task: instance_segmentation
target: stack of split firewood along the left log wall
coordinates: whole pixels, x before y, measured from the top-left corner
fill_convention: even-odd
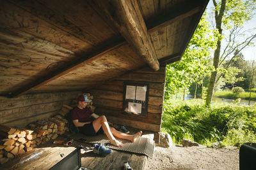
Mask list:
[[[13,128],[0,124],[0,164],[15,155],[28,152],[36,146],[56,139],[68,130],[67,120],[61,115],[49,120],[37,120],[27,125],[27,129]]]

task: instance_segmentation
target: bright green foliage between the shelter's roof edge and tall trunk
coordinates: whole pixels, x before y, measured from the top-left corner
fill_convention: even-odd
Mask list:
[[[189,41],[182,59],[166,67],[165,100],[177,92],[183,92],[193,81],[200,79],[205,72],[211,69],[207,66],[207,58],[215,46],[211,25],[206,22],[204,15]]]

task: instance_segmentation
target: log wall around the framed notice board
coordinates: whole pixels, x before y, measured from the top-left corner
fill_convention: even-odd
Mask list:
[[[152,71],[145,67],[89,90],[96,107],[95,113],[106,115],[109,122],[153,131],[157,142],[161,131],[165,69],[160,67],[159,71]],[[147,117],[122,113],[125,81],[149,84]]]

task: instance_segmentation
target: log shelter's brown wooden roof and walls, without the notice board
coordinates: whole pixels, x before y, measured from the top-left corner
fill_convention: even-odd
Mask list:
[[[1,0],[0,124],[49,118],[90,92],[109,121],[161,131],[166,64],[179,61],[208,0]],[[148,85],[125,114],[125,83]]]

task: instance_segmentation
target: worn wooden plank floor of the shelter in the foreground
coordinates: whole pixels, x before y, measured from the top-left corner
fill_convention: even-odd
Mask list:
[[[68,138],[71,138],[69,136]],[[58,137],[56,140],[68,140],[66,138]],[[83,134],[76,134],[72,136],[74,139],[83,138]],[[52,144],[51,142],[45,143],[43,145],[35,148],[33,152],[25,153],[20,157],[16,157],[8,161],[6,164],[0,166],[0,169],[49,169],[59,162],[64,157],[61,157],[63,153],[65,157],[76,149],[76,146],[87,146],[91,147],[92,145],[87,143],[81,143],[80,141],[75,140],[74,145],[72,146],[63,146]],[[39,157],[28,162],[20,163],[24,157],[28,157],[34,152],[40,152]],[[112,150],[112,153],[109,155],[100,156],[93,152],[81,153],[81,164],[88,169],[124,169],[124,162],[129,162],[129,165],[132,169],[147,169],[148,157],[146,155],[138,153],[130,153]]]

